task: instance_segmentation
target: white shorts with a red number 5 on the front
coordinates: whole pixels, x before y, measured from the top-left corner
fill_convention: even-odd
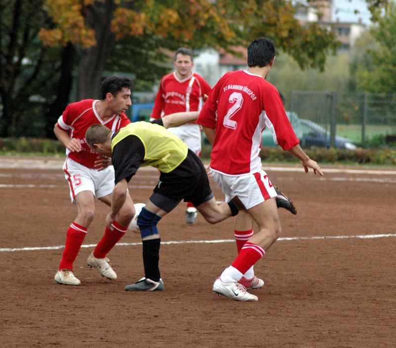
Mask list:
[[[69,183],[71,202],[79,192],[91,191],[94,196],[101,198],[113,192],[114,168],[109,166],[102,171],[90,169],[82,164],[66,158],[63,164],[63,172]]]

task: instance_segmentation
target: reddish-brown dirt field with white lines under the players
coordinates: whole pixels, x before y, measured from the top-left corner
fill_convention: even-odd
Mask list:
[[[269,166],[297,216],[279,212],[283,236],[255,265],[265,280],[256,303],[211,292],[236,256],[233,219],[186,225],[185,204],[159,223],[169,242],[160,253],[164,292],[124,291],[143,276],[136,233],[108,255],[116,281],[87,267],[108,211],[99,202],[75,262],[81,285],[54,284],[77,212],[61,168],[0,158],[0,347],[396,347],[395,168],[324,167],[319,178]],[[132,179],[136,203],[157,176],[140,170]]]

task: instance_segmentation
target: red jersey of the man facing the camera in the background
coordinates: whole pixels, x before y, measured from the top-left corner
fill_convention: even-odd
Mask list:
[[[210,93],[210,86],[198,74],[179,80],[176,72],[165,75],[161,79],[158,93],[155,97],[151,119],[175,112],[199,111],[203,105],[203,95]]]

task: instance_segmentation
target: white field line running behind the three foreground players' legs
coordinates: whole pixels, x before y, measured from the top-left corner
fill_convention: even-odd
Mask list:
[[[363,234],[355,236],[313,236],[313,237],[281,237],[277,241],[300,241],[300,240],[325,240],[325,239],[374,239],[374,238],[389,238],[396,237],[396,233],[387,234]],[[161,242],[162,245],[174,245],[174,244],[219,244],[219,243],[232,243],[234,239],[215,239],[215,240],[181,240],[181,241],[168,241]],[[142,245],[141,242],[137,243],[117,243],[117,246],[128,247]],[[0,248],[0,252],[15,252],[15,251],[35,251],[35,250],[57,250],[63,249],[64,245],[55,245],[52,247],[25,247],[25,248]],[[94,248],[96,244],[84,244],[81,248]]]

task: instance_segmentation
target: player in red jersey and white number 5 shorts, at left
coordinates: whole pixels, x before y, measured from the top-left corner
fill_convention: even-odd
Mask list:
[[[94,219],[95,197],[111,206],[114,187],[111,159],[90,149],[85,133],[92,125],[118,131],[130,123],[125,111],[132,105],[131,84],[132,81],[125,77],[105,79],[100,87],[100,100],[86,99],[68,105],[55,124],[55,135],[66,147],[63,171],[70,198],[78,208],[78,215],[67,230],[65,248],[54,278],[56,283],[80,285],[80,280],[73,274],[73,263]],[[127,195],[125,204],[113,223],[105,228],[102,239],[87,260],[88,265],[97,268],[108,279],[116,279],[117,274],[106,255],[125,234],[133,214],[133,201]]]

